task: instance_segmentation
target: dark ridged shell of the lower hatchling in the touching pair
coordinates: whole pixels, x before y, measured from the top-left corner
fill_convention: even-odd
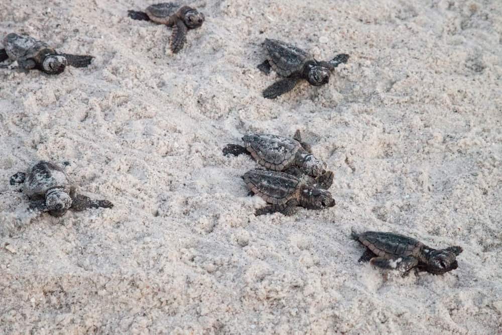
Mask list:
[[[298,197],[300,180],[284,172],[250,170],[243,177],[250,191],[272,204],[284,204]]]

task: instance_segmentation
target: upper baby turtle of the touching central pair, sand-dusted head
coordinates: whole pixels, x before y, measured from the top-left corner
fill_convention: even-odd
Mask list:
[[[310,145],[302,141],[299,130],[293,139],[271,134],[249,134],[242,141],[244,146],[226,145],[223,154],[248,154],[267,169],[297,177],[307,174],[316,178],[315,182],[323,189],[328,189],[333,183],[333,172],[326,171],[325,164],[312,155]]]

